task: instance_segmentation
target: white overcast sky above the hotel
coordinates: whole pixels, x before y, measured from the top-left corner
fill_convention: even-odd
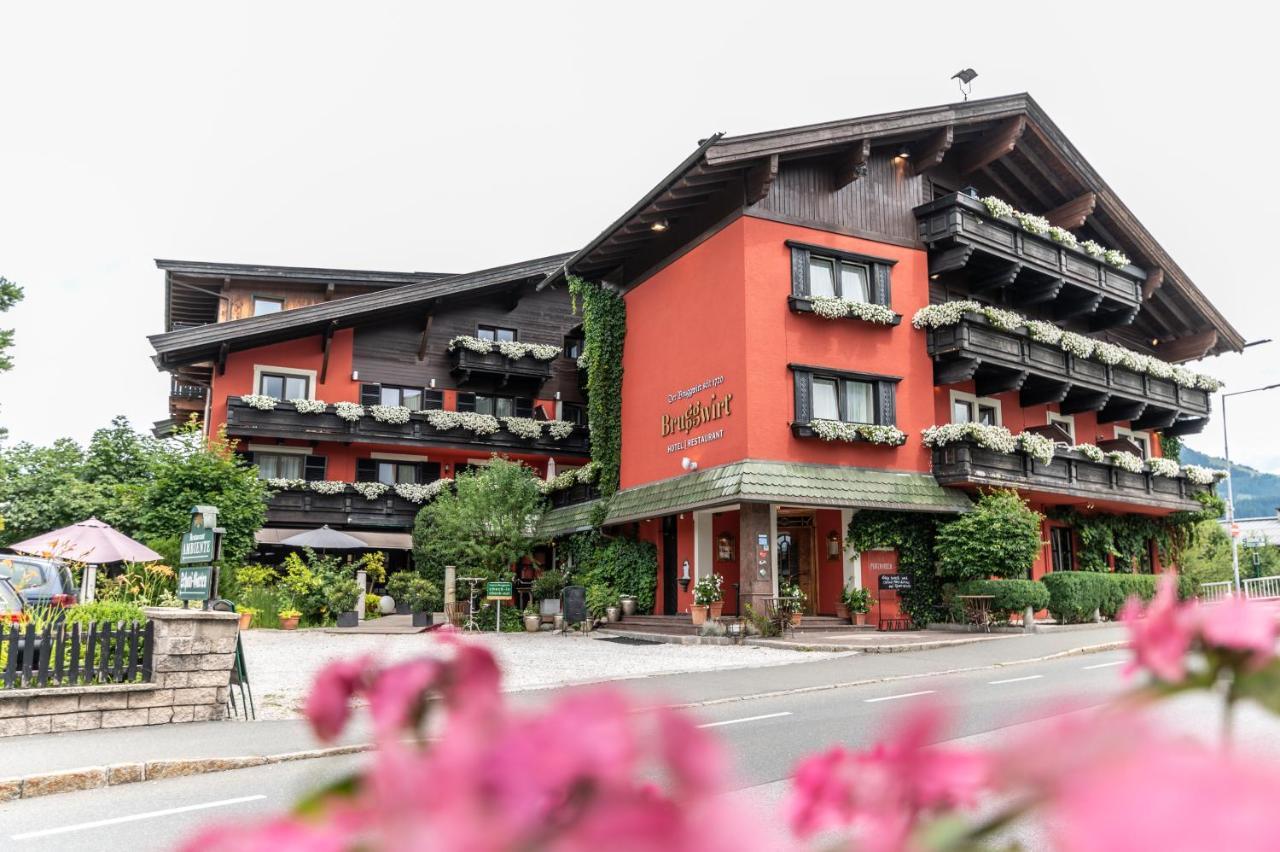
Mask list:
[[[709,133],[950,102],[969,65],[974,97],[1030,92],[1247,339],[1280,338],[1265,8],[5,3],[0,275],[27,298],[0,316],[0,423],[45,443],[165,416],[155,257],[570,251]],[[1201,368],[1280,381],[1280,342]],[[1280,471],[1280,390],[1231,404],[1234,458]],[[1190,445],[1221,454],[1221,421]]]

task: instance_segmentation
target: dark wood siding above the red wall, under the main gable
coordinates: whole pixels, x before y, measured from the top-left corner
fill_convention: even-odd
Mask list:
[[[769,194],[748,212],[837,233],[915,246],[911,209],[928,198],[924,178],[909,177],[884,154],[873,154],[867,177],[833,189],[835,164],[828,159],[783,161]]]

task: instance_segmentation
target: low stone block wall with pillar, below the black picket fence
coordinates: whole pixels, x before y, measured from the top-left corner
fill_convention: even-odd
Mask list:
[[[155,624],[150,683],[0,690],[0,737],[225,718],[239,618],[196,609],[146,613]]]

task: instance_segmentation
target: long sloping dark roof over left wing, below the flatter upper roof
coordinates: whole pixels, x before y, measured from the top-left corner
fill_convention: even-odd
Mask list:
[[[562,267],[567,258],[567,253],[552,255],[466,275],[451,275],[389,287],[376,293],[352,296],[279,313],[155,334],[147,340],[155,349],[152,361],[156,366],[161,370],[170,370],[175,366],[215,358],[220,352],[248,349],[266,343],[320,334],[329,329],[347,327],[410,308],[421,310],[440,299],[461,294],[475,294],[488,289],[509,289],[539,281],[549,272]]]

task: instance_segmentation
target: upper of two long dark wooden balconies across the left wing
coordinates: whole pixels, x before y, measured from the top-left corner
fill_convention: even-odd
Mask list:
[[[545,434],[527,439],[499,429],[493,435],[476,435],[465,429],[440,430],[431,426],[425,412],[412,412],[407,423],[383,423],[365,414],[355,422],[346,421],[328,406],[323,414],[300,414],[293,403],[276,403],[273,411],[247,406],[239,397],[227,399],[227,434],[232,438],[292,438],[307,441],[342,444],[390,444],[401,446],[436,446],[499,453],[540,453],[557,458],[588,458],[589,430],[575,426],[564,439]]]

